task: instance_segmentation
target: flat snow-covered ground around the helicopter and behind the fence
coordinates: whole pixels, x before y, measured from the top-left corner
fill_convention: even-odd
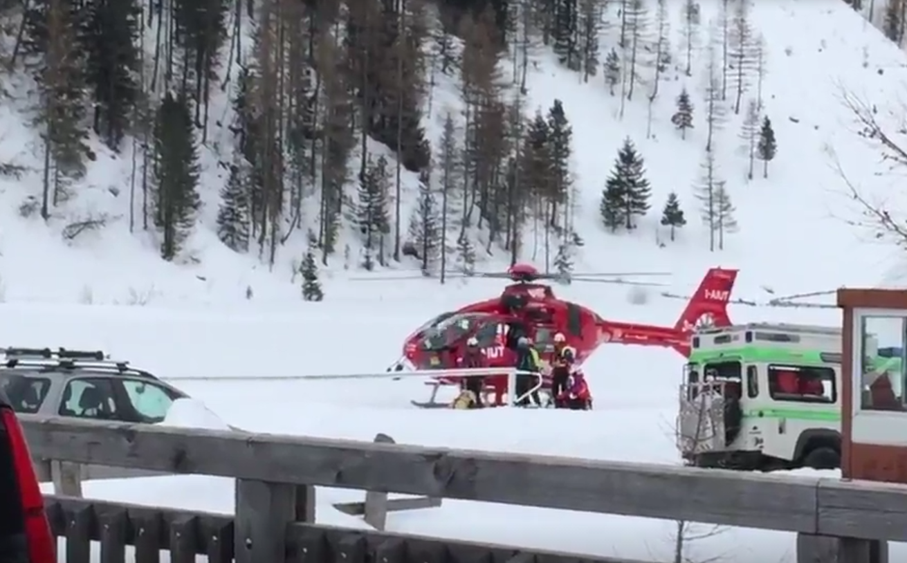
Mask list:
[[[576,290],[574,290],[576,291]],[[653,299],[632,307],[611,294],[587,292],[593,306],[622,319],[668,323],[676,301]],[[449,297],[447,306],[456,302]],[[444,306],[438,298],[431,306]],[[434,310],[434,309],[431,309]],[[361,382],[270,381],[268,377],[381,372],[400,341],[422,321],[426,307],[411,299],[371,304],[322,303],[261,310],[238,306],[169,310],[125,306],[0,306],[0,342],[103,348],[129,359],[191,393],[208,413],[180,407],[168,423],[351,438],[370,441],[376,432],[397,442],[577,456],[591,459],[677,463],[673,421],[682,359],[662,350],[605,346],[589,365],[596,394],[592,412],[424,411],[409,400],[426,393],[412,379]],[[750,318],[746,311],[733,312]],[[818,316],[816,316],[818,315]],[[792,318],[834,323],[834,311]],[[180,377],[243,378],[183,381]],[[248,377],[257,381],[249,381]],[[88,497],[193,510],[233,510],[232,481],[166,477],[86,483]],[[322,490],[317,519],[357,527],[331,504],[362,493]],[[675,524],[493,504],[445,500],[439,509],[391,515],[388,529],[458,539],[487,540],[531,548],[670,560]],[[705,529],[708,529],[707,527]],[[892,557],[901,546],[892,550]],[[690,560],[717,556],[739,563],[793,561],[790,534],[722,529],[689,545]]]

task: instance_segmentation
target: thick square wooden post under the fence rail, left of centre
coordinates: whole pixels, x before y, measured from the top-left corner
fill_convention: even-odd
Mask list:
[[[297,517],[296,485],[236,480],[236,563],[284,561],[287,528]]]

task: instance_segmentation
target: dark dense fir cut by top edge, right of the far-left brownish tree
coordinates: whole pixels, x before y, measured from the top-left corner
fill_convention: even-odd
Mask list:
[[[140,8],[135,0],[93,0],[83,6],[80,43],[93,98],[93,128],[105,145],[119,150],[140,95]]]

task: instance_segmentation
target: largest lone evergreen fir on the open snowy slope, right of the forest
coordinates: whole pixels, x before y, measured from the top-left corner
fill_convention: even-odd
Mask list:
[[[618,152],[614,171],[605,184],[602,199],[602,218],[612,231],[617,228],[613,225],[614,218],[622,218],[624,227],[629,230],[636,228],[633,218],[641,217],[649,211],[652,190],[649,180],[645,178],[643,165],[642,157],[628,137]]]

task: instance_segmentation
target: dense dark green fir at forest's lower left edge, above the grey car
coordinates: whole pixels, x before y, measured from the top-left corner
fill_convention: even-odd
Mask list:
[[[200,201],[199,156],[189,107],[167,94],[154,126],[155,224],[161,231],[161,257],[172,260],[195,222]]]

